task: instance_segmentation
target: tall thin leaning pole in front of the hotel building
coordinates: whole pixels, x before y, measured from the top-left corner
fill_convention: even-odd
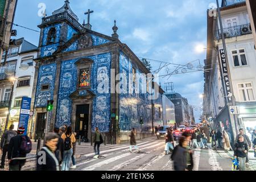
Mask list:
[[[228,106],[230,106],[230,104],[232,104],[233,106],[236,105],[236,98],[234,97],[234,92],[233,92],[233,85],[232,85],[232,80],[230,77],[230,68],[229,68],[229,60],[228,60],[228,52],[226,51],[226,41],[225,41],[225,36],[224,36],[224,30],[223,30],[223,25],[222,25],[222,19],[221,19],[221,12],[220,12],[220,5],[218,3],[218,0],[216,0],[217,2],[217,10],[218,10],[218,19],[220,21],[220,28],[221,28],[221,38],[222,38],[222,44],[223,44],[223,48],[224,48],[224,52],[225,52],[225,62],[226,62],[226,71],[228,73],[228,80],[229,80],[229,87],[230,87],[230,93],[232,94],[231,96],[231,103],[228,102]],[[225,81],[224,81],[225,82]],[[228,90],[226,90],[228,92]],[[226,96],[229,97],[229,96]],[[237,118],[236,115],[233,115],[234,117],[234,124],[236,127],[236,134],[238,133],[238,127],[237,127]]]

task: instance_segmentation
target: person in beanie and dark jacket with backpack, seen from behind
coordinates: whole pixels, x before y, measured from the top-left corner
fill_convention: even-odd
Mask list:
[[[8,148],[9,171],[20,171],[26,163],[26,156],[32,150],[32,143],[27,135],[23,135],[24,127],[19,127],[15,137],[11,138]]]

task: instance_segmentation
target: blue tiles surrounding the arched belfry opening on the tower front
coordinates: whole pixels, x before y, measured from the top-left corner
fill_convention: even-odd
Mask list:
[[[51,44],[49,46],[46,46],[47,45],[48,32],[52,27],[56,28],[55,44]],[[53,54],[53,52],[57,51],[57,48],[59,46],[59,41],[60,41],[60,29],[61,29],[61,24],[55,24],[53,26],[49,26],[49,27],[44,28],[42,48],[41,48],[41,57],[51,56]]]

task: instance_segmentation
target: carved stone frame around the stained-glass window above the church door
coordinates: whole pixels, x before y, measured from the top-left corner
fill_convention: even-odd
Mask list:
[[[85,59],[80,59],[78,61],[76,61],[76,66],[77,66],[77,85],[76,85],[76,90],[84,90],[84,89],[90,89],[92,86],[92,65],[93,65],[93,60],[85,58]],[[80,87],[80,70],[81,69],[86,69],[89,68],[89,79],[90,79],[90,86],[85,86],[85,87]]]

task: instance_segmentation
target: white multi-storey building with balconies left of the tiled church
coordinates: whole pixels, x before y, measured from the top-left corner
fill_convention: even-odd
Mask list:
[[[0,125],[2,131],[5,128],[13,86],[13,81],[10,78],[15,77],[16,80],[14,82],[13,100],[11,101],[9,125],[14,124],[15,129],[17,129],[21,99],[22,97],[32,96],[35,74],[33,59],[36,58],[37,52],[38,48],[24,38],[14,39],[10,42],[6,64],[0,67]],[[1,63],[4,60],[5,56],[2,57]]]

